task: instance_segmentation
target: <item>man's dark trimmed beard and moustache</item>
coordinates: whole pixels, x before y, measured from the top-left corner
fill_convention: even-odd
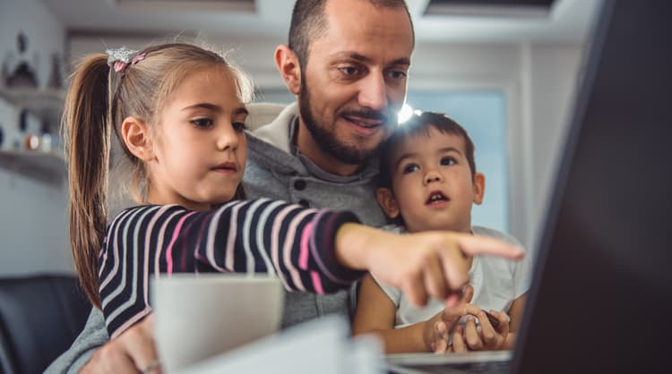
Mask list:
[[[335,129],[332,129],[330,132],[329,129],[324,126],[324,123],[319,123],[315,120],[311,110],[310,101],[311,98],[306,84],[306,76],[302,76],[301,93],[298,98],[299,113],[306,124],[308,132],[313,136],[317,147],[334,159],[348,165],[364,165],[371,157],[375,156],[379,147],[375,147],[375,149],[359,149],[356,145],[347,144],[337,139]],[[359,110],[334,113],[334,125],[335,121],[343,115],[380,120],[383,121],[383,126],[389,125],[389,118],[387,115],[366,107],[359,108]]]

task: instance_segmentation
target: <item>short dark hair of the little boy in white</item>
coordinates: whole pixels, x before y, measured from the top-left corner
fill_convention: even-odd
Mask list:
[[[439,132],[457,135],[464,140],[464,151],[467,162],[471,170],[471,177],[476,174],[476,160],[474,158],[474,142],[471,141],[469,134],[464,128],[453,121],[447,115],[435,112],[423,112],[422,114],[413,114],[408,121],[397,127],[392,136],[381,144],[379,149],[380,156],[380,176],[378,187],[392,189],[392,149],[395,149],[401,141],[409,137],[424,134],[429,136],[429,128],[434,127]]]

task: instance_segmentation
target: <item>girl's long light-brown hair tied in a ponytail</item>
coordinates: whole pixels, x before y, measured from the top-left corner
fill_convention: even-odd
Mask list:
[[[149,47],[143,53],[142,61],[128,64],[121,72],[108,66],[108,55],[84,57],[70,78],[65,99],[63,132],[70,190],[70,242],[84,292],[98,308],[99,251],[108,225],[111,133],[116,133],[131,164],[132,197],[137,203],[144,203],[148,174],[142,160],[128,150],[122,139],[121,123],[126,117],[155,123],[161,103],[185,76],[210,66],[220,65],[231,74],[241,101],[252,98],[252,85],[246,75],[218,53],[183,43]],[[234,199],[244,198],[242,187],[238,186]]]

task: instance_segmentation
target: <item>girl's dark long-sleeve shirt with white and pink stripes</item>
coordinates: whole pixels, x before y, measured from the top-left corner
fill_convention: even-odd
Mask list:
[[[114,338],[151,312],[149,278],[188,272],[268,272],[288,290],[330,293],[362,272],[336,260],[335,234],[349,212],[275,200],[232,201],[196,212],[139,206],[108,225],[99,256],[99,290]]]

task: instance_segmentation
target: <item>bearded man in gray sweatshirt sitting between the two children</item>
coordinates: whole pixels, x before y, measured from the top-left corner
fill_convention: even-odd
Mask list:
[[[396,124],[413,46],[403,0],[297,0],[289,46],[275,51],[297,103],[248,136],[248,197],[349,209],[367,225],[382,225],[372,157]],[[352,300],[347,292],[288,293],[285,304],[288,327],[327,313],[348,314]],[[102,314],[92,310],[82,334],[47,372],[151,371],[151,320],[105,344]]]

